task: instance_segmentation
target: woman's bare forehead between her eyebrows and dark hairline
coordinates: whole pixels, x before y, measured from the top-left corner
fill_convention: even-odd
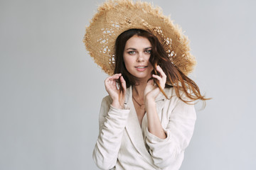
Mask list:
[[[144,38],[142,36],[133,35],[132,38],[129,38],[125,44],[125,48],[146,48],[151,47],[151,43],[147,38]]]

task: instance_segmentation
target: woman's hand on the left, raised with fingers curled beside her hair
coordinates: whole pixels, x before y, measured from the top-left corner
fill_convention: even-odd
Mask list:
[[[122,86],[122,89],[124,89],[124,91],[121,91],[120,88],[117,88],[117,79],[120,79],[121,84],[119,84],[119,86]],[[119,73],[114,74],[111,77],[107,77],[107,79],[105,79],[105,89],[113,100],[112,106],[114,108],[124,108],[126,82],[124,81],[124,77],[122,77],[122,74]]]

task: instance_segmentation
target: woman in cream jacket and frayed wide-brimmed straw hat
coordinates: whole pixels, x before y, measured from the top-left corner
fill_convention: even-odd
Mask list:
[[[145,26],[143,23],[133,28],[133,18],[126,21],[129,29],[122,25],[124,31],[114,39],[114,49],[106,46],[111,45],[110,38],[107,43],[102,38],[93,40],[92,35],[97,35],[97,24],[102,24],[109,17],[107,13],[121,10],[134,14],[130,7],[137,12],[138,3],[141,3],[112,2],[108,1],[98,9],[98,15],[95,15],[85,35],[85,45],[95,62],[107,73],[111,69],[106,67],[110,65],[111,68],[114,64],[114,74],[105,80],[109,96],[102,100],[100,131],[93,159],[100,169],[179,169],[196,121],[193,101],[206,100],[198,86],[184,74],[190,72],[191,63],[194,63],[193,58],[189,58],[186,40],[182,42],[183,36],[176,33],[169,42],[167,38],[160,42],[164,30],[154,32],[155,29],[149,27],[150,20],[146,21],[144,29],[139,28],[139,24]],[[129,10],[122,10],[127,5]],[[156,11],[149,4],[144,4],[143,10],[145,8],[149,9],[149,14],[152,9]],[[112,19],[113,23],[117,23]],[[104,24],[106,28],[107,23]],[[103,33],[110,30],[110,37],[115,33],[111,29],[98,30],[103,30]],[[178,40],[175,39],[177,37]],[[166,44],[169,44],[167,50],[164,48]],[[95,55],[100,45],[102,55],[110,58],[108,62],[100,61]],[[181,51],[183,55],[179,55]],[[176,60],[178,57],[182,60]],[[184,60],[186,62],[182,62]]]

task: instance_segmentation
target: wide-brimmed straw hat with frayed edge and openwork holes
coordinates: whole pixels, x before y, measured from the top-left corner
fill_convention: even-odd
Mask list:
[[[83,39],[90,56],[104,72],[114,73],[115,40],[122,32],[132,28],[155,35],[171,62],[183,74],[193,71],[196,60],[189,52],[188,38],[182,34],[181,28],[163,15],[161,8],[142,1],[109,0],[97,8]]]

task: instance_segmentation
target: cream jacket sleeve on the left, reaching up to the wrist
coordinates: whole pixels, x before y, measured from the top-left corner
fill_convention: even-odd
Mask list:
[[[99,118],[99,135],[92,157],[100,169],[112,169],[122,142],[122,133],[127,123],[129,110],[111,106],[111,98],[102,99]]]

